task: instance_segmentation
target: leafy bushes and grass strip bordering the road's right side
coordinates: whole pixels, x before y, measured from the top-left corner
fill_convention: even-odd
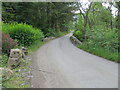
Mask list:
[[[119,42],[116,31],[118,30],[115,28],[108,29],[103,25],[94,26],[91,31],[87,31],[88,39],[78,47],[97,56],[120,62],[118,61]],[[78,36],[80,36],[80,34],[78,34]]]

